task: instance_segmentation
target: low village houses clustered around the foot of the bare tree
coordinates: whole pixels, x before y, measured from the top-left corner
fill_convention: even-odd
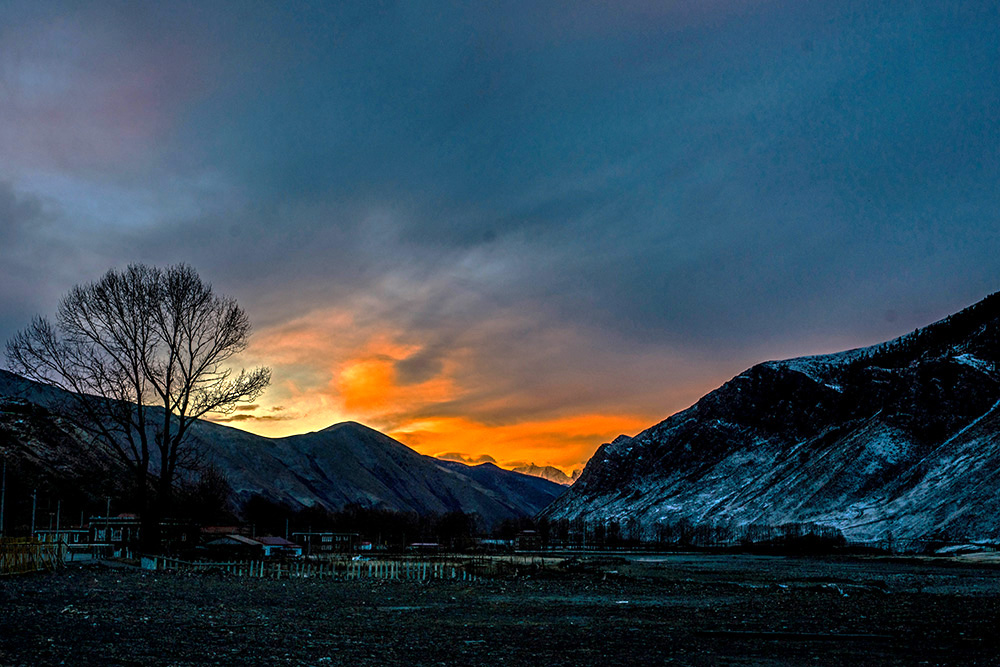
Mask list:
[[[34,537],[65,545],[68,559],[77,555],[128,557],[139,542],[140,523],[136,514],[92,516],[80,527],[36,530]],[[160,534],[168,551],[225,560],[298,558],[372,548],[357,533],[309,531],[279,537],[257,535],[253,527],[198,526],[169,519],[160,523]]]

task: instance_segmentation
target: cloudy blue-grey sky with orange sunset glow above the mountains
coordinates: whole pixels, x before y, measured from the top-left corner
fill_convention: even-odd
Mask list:
[[[0,0],[0,339],[185,262],[272,385],[580,467],[1000,289],[993,2]]]

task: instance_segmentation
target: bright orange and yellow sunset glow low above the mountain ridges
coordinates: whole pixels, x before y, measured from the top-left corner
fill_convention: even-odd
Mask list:
[[[684,396],[659,410],[629,411],[613,401],[602,409],[602,401],[592,400],[510,414],[509,402],[530,408],[536,401],[529,392],[539,390],[522,392],[514,382],[509,395],[493,391],[492,383],[503,378],[477,370],[481,360],[461,344],[439,355],[430,370],[407,375],[404,365],[426,352],[421,341],[407,338],[344,310],[311,313],[259,331],[241,362],[271,366],[272,385],[254,405],[217,421],[280,437],[352,420],[422,454],[493,460],[508,468],[551,465],[571,473],[602,443],[634,435],[690,402]],[[601,386],[600,378],[586,374],[576,382]],[[571,384],[565,381],[556,390],[568,395],[591,390]],[[693,388],[690,396],[701,391]],[[545,398],[539,395],[537,403]]]

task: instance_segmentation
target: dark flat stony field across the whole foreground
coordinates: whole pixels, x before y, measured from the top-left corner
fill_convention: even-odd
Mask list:
[[[475,584],[103,566],[0,579],[2,665],[1000,664],[1000,570],[584,560]]]

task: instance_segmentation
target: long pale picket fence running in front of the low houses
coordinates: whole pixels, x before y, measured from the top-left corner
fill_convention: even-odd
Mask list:
[[[454,579],[478,581],[481,576],[461,562],[410,560],[321,560],[321,561],[185,561],[167,556],[143,556],[147,570],[179,572],[224,572],[240,577],[266,579]]]

